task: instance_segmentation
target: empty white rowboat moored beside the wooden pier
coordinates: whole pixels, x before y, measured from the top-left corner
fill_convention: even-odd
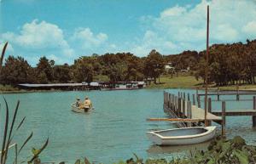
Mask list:
[[[198,144],[214,138],[216,127],[183,127],[148,132],[148,138],[158,145]]]

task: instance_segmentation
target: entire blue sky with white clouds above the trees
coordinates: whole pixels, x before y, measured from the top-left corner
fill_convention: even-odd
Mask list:
[[[0,0],[0,48],[36,65],[91,54],[147,56],[256,39],[256,0]]]

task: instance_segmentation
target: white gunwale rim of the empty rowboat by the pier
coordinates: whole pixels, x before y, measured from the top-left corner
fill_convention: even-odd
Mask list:
[[[158,132],[166,132],[166,131],[170,131],[170,130],[181,129],[181,128],[172,128],[172,129],[159,130],[159,131],[153,131],[153,132],[147,132],[147,133],[153,134],[153,135],[159,137],[160,139],[194,139],[194,138],[206,136],[207,134],[212,133],[216,129],[216,126],[211,126],[211,127],[183,127],[182,129],[184,129],[184,128],[185,129],[203,128],[203,129],[206,129],[207,132],[200,133],[200,134],[186,135],[186,136],[173,136],[173,137],[164,137],[164,136],[158,134]]]

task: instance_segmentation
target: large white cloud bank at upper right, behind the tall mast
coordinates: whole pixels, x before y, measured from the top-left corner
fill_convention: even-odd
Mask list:
[[[205,49],[208,4],[210,42],[244,42],[247,38],[255,39],[255,1],[202,0],[194,7],[176,5],[166,8],[158,17],[144,15],[140,19],[146,29],[144,37],[131,49],[140,55],[147,55],[153,48],[162,54]],[[150,35],[148,31],[151,31]]]

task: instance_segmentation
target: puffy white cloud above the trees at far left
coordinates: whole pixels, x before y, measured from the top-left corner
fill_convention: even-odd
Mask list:
[[[16,51],[15,54],[26,55],[26,59],[32,60],[32,65],[38,62],[39,54],[48,56],[49,54],[56,54],[57,59],[62,59],[68,62],[68,59],[73,57],[74,50],[70,48],[68,42],[64,38],[62,29],[55,24],[32,20],[30,23],[22,25],[18,33],[5,32],[2,35],[3,40],[9,41]],[[72,60],[73,61],[73,60]],[[55,61],[61,64],[59,60]]]

